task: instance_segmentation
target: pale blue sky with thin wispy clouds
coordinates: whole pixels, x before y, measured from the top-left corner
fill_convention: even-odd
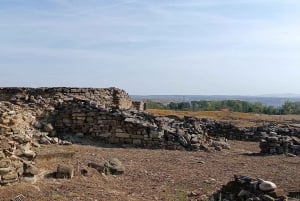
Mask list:
[[[300,1],[0,0],[0,86],[300,94]]]

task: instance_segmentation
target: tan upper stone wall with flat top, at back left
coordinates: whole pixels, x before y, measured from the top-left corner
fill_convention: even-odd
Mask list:
[[[50,104],[68,101],[73,98],[85,99],[104,107],[119,109],[132,108],[129,95],[118,88],[0,88],[0,101],[13,101],[28,104]]]

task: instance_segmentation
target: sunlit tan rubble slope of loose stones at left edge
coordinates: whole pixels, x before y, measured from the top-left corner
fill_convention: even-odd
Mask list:
[[[26,106],[0,101],[0,186],[17,181],[35,182],[38,169],[34,159],[39,139],[45,136],[51,143],[59,143],[48,137],[53,130],[49,125],[40,125],[49,132],[35,129],[38,124],[35,112]]]

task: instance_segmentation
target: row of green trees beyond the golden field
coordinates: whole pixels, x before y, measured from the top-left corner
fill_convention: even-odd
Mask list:
[[[146,101],[149,109],[171,109],[182,111],[220,111],[259,113],[259,114],[300,114],[300,102],[285,101],[282,106],[267,106],[260,102],[248,102],[241,100],[200,100],[191,102],[170,102],[164,105],[152,100]]]

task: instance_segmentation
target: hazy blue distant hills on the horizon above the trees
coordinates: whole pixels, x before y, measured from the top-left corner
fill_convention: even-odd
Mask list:
[[[300,101],[300,95],[294,94],[269,94],[261,96],[238,95],[131,95],[133,100],[152,100],[167,104],[170,102],[190,102],[199,100],[241,100],[248,102],[261,102],[267,106],[278,107],[285,101]]]

